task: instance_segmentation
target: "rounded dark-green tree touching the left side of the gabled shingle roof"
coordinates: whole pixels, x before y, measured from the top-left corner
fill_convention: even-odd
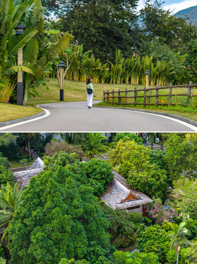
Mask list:
[[[111,165],[100,159],[91,159],[89,162],[79,164],[82,173],[85,173],[94,194],[99,196],[107,191],[107,184],[109,184],[114,175],[112,173]]]

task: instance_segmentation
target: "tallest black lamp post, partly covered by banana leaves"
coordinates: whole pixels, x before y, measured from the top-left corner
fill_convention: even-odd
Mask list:
[[[18,25],[15,27],[16,35],[22,35],[25,31],[23,25]],[[18,49],[17,56],[17,65],[22,64],[23,62],[23,50],[22,48]],[[23,75],[22,72],[17,72],[17,105],[23,105]]]

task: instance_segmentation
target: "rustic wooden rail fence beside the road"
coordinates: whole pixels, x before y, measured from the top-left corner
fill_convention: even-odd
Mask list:
[[[150,89],[146,89],[146,86],[144,87],[144,89],[137,89],[136,87],[133,90],[128,90],[125,89],[123,91],[121,91],[120,89],[118,91],[113,90],[112,92],[109,92],[109,90],[103,91],[103,101],[109,103],[110,101],[112,102],[112,104],[125,104],[125,105],[183,105],[183,103],[173,103],[172,102],[172,97],[173,96],[187,96],[186,100],[189,100],[190,97],[194,97],[197,96],[196,94],[191,94],[191,88],[192,87],[197,87],[197,84],[192,84],[192,82],[190,81],[189,84],[186,85],[172,85],[172,83],[169,84],[169,86],[161,86],[159,87],[159,85],[156,85],[156,87],[154,88],[150,88]],[[187,89],[187,93],[175,93],[173,94],[173,89],[175,88],[184,88]],[[167,94],[159,94],[159,90],[161,89],[169,89],[169,93]],[[150,91],[154,91],[155,90],[155,94],[150,94]],[[138,95],[138,92],[142,92],[143,95]],[[125,93],[125,95],[122,95],[121,93]],[[133,95],[128,96],[128,93],[133,93]],[[107,95],[107,97],[105,96]],[[167,103],[161,103],[159,101],[159,97],[169,97],[169,100]],[[150,102],[150,98],[151,97],[155,97],[155,102]],[[112,98],[112,100],[111,100]],[[117,98],[118,100],[116,100],[115,98]],[[121,98],[124,98],[125,102],[121,102]],[[129,98],[134,98],[133,102],[128,102]],[[137,102],[136,99],[137,98],[143,98],[143,102]],[[116,100],[116,101],[115,101]]]

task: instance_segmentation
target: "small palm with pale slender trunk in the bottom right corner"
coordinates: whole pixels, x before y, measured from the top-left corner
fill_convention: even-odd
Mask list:
[[[176,264],[178,264],[179,262],[179,251],[181,249],[181,245],[184,244],[186,246],[193,246],[191,242],[187,239],[191,235],[191,232],[184,227],[185,224],[185,222],[181,222],[180,225],[170,223],[171,229],[174,233],[167,236],[170,237],[170,240],[172,242],[170,249],[175,248],[176,250]]]

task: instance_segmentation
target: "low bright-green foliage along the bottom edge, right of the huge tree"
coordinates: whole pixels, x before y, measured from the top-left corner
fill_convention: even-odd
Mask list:
[[[114,252],[115,264],[160,264],[158,256],[153,252],[144,253],[135,251],[133,254],[123,251]]]

